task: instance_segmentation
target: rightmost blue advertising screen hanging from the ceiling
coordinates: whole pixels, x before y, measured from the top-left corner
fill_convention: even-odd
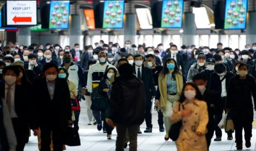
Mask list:
[[[226,0],[225,24],[227,30],[246,28],[247,0]]]

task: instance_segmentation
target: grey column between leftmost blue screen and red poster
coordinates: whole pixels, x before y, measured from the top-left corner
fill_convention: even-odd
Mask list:
[[[80,16],[78,14],[71,15],[71,21],[69,25],[69,45],[73,47],[75,43],[80,44]],[[83,48],[83,45],[80,44],[80,47]]]

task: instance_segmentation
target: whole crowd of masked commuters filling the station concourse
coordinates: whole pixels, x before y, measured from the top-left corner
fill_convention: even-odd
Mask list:
[[[168,141],[171,126],[182,121],[178,150],[209,150],[222,140],[218,126],[227,114],[235,126],[237,149],[249,148],[256,104],[256,43],[244,50],[196,48],[173,43],[164,49],[103,40],[80,49],[75,44],[8,43],[0,47],[0,150],[24,150],[30,130],[42,151],[63,150],[70,125],[79,131],[80,103],[88,125],[112,139],[116,150],[137,150],[145,120],[152,132],[156,107],[159,131]],[[76,109],[74,109],[76,108]],[[227,131],[227,140],[233,140]]]

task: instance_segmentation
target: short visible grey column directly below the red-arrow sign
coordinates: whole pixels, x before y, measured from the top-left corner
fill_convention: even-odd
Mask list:
[[[18,43],[29,46],[31,44],[30,27],[21,27],[18,32]]]

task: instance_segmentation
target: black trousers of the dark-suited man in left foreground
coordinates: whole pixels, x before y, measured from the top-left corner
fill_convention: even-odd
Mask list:
[[[54,125],[54,124],[52,124]],[[53,142],[53,150],[63,150],[64,132],[61,128],[52,127],[51,125],[44,125],[41,129],[41,151],[51,151],[50,144]],[[51,140],[52,131],[52,140]]]

